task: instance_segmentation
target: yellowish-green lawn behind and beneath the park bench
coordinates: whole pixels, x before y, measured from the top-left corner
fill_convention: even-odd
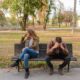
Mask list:
[[[8,67],[11,63],[11,57],[14,55],[14,44],[19,43],[22,35],[26,32],[0,32],[0,67]],[[74,34],[69,30],[61,31],[36,31],[40,38],[40,42],[48,43],[52,38],[61,36],[65,42],[73,44],[74,55],[78,58],[77,63],[72,62],[72,66],[80,66],[80,31],[75,31]],[[75,64],[74,64],[75,63]],[[45,65],[44,62],[30,62],[31,67],[40,67]]]

